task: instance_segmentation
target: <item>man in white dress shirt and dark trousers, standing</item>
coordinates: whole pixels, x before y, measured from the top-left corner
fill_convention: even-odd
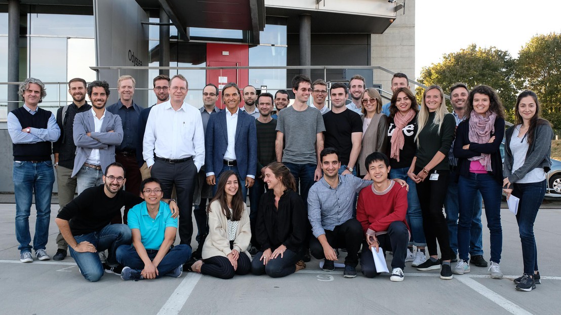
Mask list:
[[[185,102],[187,79],[178,74],[170,82],[168,102],[150,111],[144,134],[144,160],[152,177],[162,182],[164,198],[171,198],[173,185],[180,208],[181,244],[191,244],[192,205],[197,172],[204,164],[205,144],[200,112]]]

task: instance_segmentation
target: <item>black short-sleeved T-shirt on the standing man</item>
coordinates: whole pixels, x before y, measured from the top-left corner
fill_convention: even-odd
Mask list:
[[[325,125],[324,148],[339,150],[341,165],[348,165],[352,150],[352,133],[362,133],[362,120],[360,115],[345,109],[341,113],[329,111],[323,115]]]

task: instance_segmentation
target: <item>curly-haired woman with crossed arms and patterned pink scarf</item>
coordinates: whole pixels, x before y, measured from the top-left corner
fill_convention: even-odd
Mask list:
[[[503,183],[503,162],[500,144],[504,136],[504,107],[499,95],[487,85],[477,85],[467,97],[466,120],[458,125],[454,141],[454,156],[458,158],[458,253],[459,262],[453,273],[470,272],[471,222],[473,199],[479,190],[485,203],[485,215],[490,232],[493,279],[503,279],[500,254],[503,249],[503,229],[500,224],[500,189]]]

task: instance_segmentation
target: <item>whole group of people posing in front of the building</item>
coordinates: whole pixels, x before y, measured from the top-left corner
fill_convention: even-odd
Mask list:
[[[379,275],[372,251],[382,250],[393,253],[392,281],[404,279],[405,262],[452,279],[470,272],[470,263],[488,266],[481,200],[490,231],[488,271],[502,279],[504,193],[521,199],[524,272],[516,289],[540,283],[533,225],[553,131],[540,118],[535,93],[519,95],[516,124],[505,132],[504,107],[490,86],[454,84],[449,113],[440,86],[426,88],[419,105],[401,73],[385,105],[360,75],[329,89],[323,80],[297,75],[292,106],[286,90],[273,96],[228,83],[222,91],[207,84],[204,106],[196,109],[185,102],[182,75],[159,75],[153,84],[158,102],[141,109],[132,99],[135,79],[121,76],[119,101],[105,107],[105,81],[72,79],[73,103],[56,117],[38,107],[46,95],[40,80],[20,85],[24,106],[8,114],[8,130],[21,262],[33,262],[31,249],[37,259],[50,259],[52,150],[60,204],[53,259],[70,250],[90,281],[104,271],[125,280],[179,277],[188,261],[190,270],[222,279],[250,272],[283,277],[305,268],[310,255],[333,271],[339,250],[347,252],[346,278],[356,276],[359,261],[366,277]],[[199,243],[193,253],[192,214]],[[177,231],[180,242],[173,245]]]

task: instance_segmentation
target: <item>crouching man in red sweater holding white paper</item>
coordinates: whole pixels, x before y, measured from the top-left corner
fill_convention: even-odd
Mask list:
[[[356,218],[366,236],[360,259],[362,273],[368,278],[379,275],[371,251],[379,252],[381,249],[384,257],[387,251],[393,253],[392,276],[389,280],[403,281],[410,234],[405,220],[407,189],[388,179],[389,159],[384,153],[371,153],[365,162],[374,182],[360,191],[356,206]]]

